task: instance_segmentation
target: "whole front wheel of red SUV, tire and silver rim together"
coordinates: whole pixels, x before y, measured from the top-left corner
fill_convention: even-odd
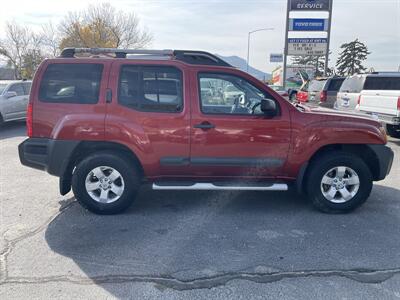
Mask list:
[[[323,180],[329,180],[331,183],[323,184]],[[358,185],[351,185],[357,180]],[[353,211],[368,199],[372,183],[371,171],[365,162],[358,156],[343,151],[330,152],[318,157],[311,163],[307,172],[309,198],[313,206],[324,213]],[[328,200],[332,195],[333,198]]]

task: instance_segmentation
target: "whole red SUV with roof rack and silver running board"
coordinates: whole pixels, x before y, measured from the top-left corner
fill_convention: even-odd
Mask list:
[[[22,164],[87,209],[118,213],[155,190],[304,192],[352,210],[389,173],[381,124],[293,105],[201,51],[69,48],[36,72]]]

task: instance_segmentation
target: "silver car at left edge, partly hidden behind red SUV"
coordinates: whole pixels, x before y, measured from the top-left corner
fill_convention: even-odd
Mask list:
[[[0,125],[25,119],[31,84],[30,81],[0,81]]]

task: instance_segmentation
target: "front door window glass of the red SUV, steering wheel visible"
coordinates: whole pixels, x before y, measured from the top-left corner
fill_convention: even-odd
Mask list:
[[[228,74],[199,73],[200,104],[205,114],[262,115],[266,94],[247,80]],[[269,97],[270,98],[270,97]]]

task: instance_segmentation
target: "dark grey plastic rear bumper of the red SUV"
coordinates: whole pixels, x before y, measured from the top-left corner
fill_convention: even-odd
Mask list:
[[[24,166],[61,177],[79,141],[28,138],[18,146]]]

